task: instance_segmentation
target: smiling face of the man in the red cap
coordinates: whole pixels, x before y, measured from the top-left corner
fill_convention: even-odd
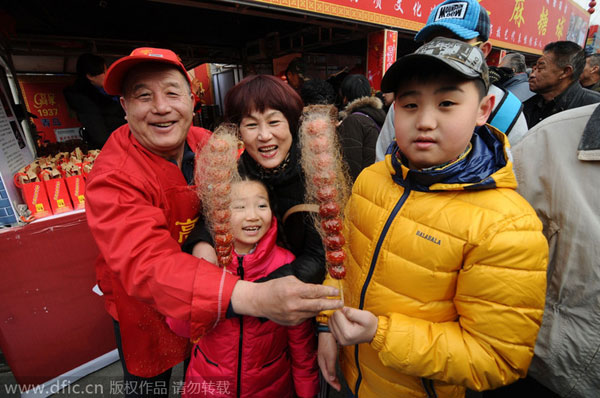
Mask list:
[[[194,107],[185,77],[174,67],[144,65],[129,73],[123,88],[121,105],[133,136],[156,155],[176,159]]]

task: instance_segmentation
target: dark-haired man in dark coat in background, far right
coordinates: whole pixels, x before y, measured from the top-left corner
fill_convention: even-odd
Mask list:
[[[579,84],[584,65],[585,53],[576,43],[556,41],[544,47],[529,76],[529,89],[536,93],[524,104],[529,128],[555,113],[600,102],[600,93]]]

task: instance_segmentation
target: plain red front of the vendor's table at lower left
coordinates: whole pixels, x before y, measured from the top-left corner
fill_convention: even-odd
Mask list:
[[[97,255],[84,211],[0,231],[0,347],[22,386],[114,350],[112,320],[92,292]]]

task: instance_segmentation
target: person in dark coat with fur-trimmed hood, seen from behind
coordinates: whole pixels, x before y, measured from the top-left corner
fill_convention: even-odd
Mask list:
[[[363,75],[348,75],[340,86],[345,108],[338,127],[344,160],[352,181],[375,162],[375,144],[385,121],[383,104],[371,96],[371,85]]]

